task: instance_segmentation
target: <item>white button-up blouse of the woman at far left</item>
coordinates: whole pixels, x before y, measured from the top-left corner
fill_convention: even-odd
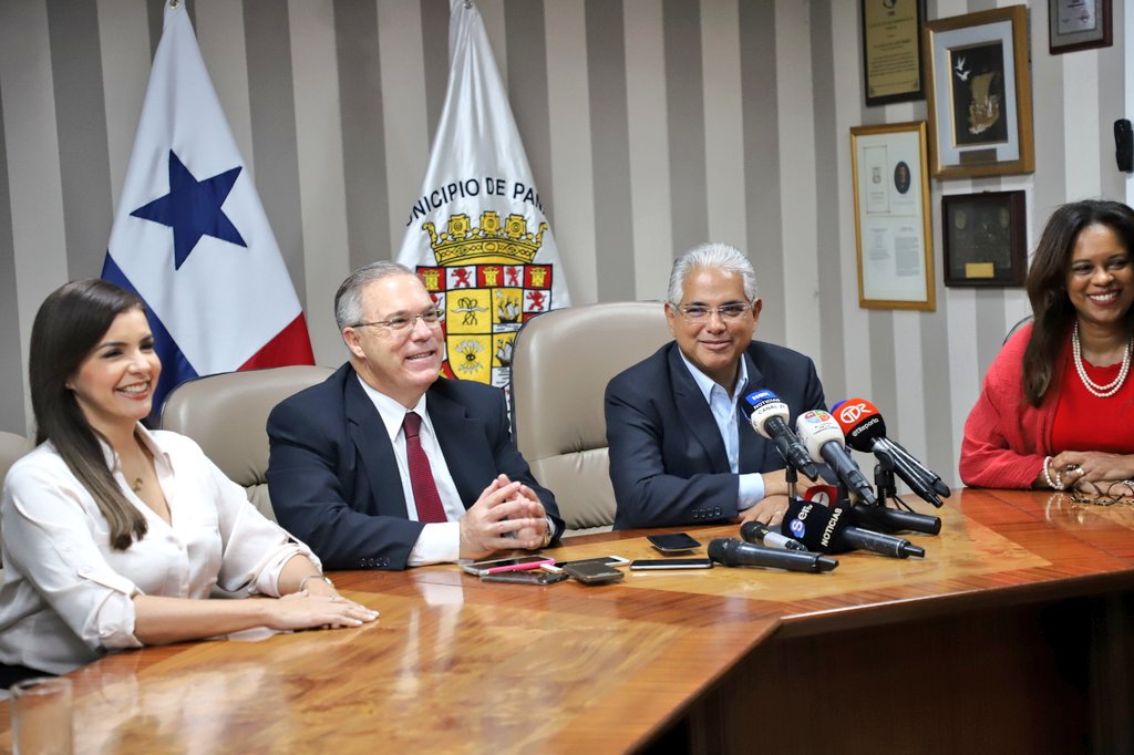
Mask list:
[[[142,645],[134,636],[134,595],[208,599],[219,586],[278,596],[280,571],[293,557],[320,566],[195,442],[141,425],[137,432],[153,455],[171,524],[134,494],[118,456],[103,444],[115,480],[149,526],[124,551],[111,548],[107,519],[50,441],[8,472],[0,501],[0,661],[66,673]]]

